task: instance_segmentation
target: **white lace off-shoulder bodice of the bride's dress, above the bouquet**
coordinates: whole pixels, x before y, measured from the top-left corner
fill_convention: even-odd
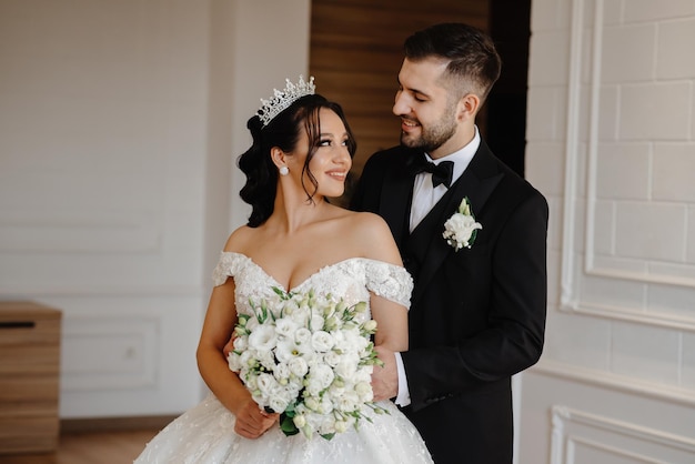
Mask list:
[[[273,286],[291,292],[313,289],[321,294],[332,293],[343,297],[348,304],[369,303],[371,291],[406,309],[410,307],[413,290],[413,280],[404,268],[366,258],[350,258],[329,264],[293,289],[284,289],[249,256],[222,252],[212,279],[215,285],[221,285],[230,276],[234,279],[236,311],[241,314],[253,314],[249,300],[271,297]],[[371,312],[367,311],[364,316],[371,317]]]

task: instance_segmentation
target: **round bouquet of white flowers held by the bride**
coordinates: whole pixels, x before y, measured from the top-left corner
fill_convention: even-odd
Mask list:
[[[331,440],[371,421],[364,406],[385,412],[372,402],[376,322],[356,319],[366,303],[273,291],[270,301],[251,302],[254,315],[239,315],[228,361],[260,406],[281,413],[282,432]]]

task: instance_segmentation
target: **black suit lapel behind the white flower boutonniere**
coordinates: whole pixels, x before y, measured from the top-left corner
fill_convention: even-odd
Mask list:
[[[411,246],[417,248],[422,259],[412,303],[415,304],[434,278],[436,271],[451,253],[455,253],[444,238],[444,223],[459,209],[461,201],[467,196],[473,213],[477,216],[485,208],[487,199],[502,180],[503,173],[497,169],[496,160],[484,141],[471,160],[471,164],[461,178],[454,182],[449,192],[430,211],[425,219],[415,228],[411,235]],[[422,230],[421,225],[423,226]],[[483,224],[484,234],[485,224]],[[424,253],[423,253],[424,252]]]

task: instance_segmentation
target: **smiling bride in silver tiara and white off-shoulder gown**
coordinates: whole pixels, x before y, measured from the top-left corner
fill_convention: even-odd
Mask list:
[[[280,414],[259,405],[258,386],[252,394],[248,377],[232,372],[233,356],[225,359],[233,333],[232,350],[242,350],[234,326],[255,316],[258,302],[309,292],[366,302],[359,317],[376,321],[374,344],[407,350],[412,280],[389,226],[326,201],[343,194],[355,152],[341,107],[301,77],[262,103],[248,122],[253,144],[239,159],[246,175],[241,196],[252,212],[213,272],[197,353],[212,393],[162,430],[135,463],[430,463],[417,431],[389,401],[362,406],[350,427],[320,431],[331,440],[311,430],[285,436]]]

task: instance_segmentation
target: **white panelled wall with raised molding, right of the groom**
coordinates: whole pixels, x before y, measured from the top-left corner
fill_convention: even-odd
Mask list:
[[[534,0],[527,175],[551,202],[522,464],[695,462],[695,2]]]

